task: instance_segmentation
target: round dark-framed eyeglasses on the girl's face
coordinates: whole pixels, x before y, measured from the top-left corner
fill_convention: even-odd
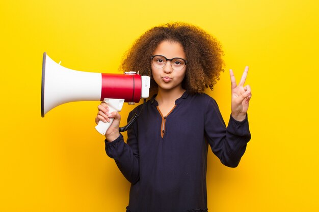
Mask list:
[[[185,67],[185,65],[187,65],[188,63],[183,58],[174,57],[172,59],[168,59],[163,55],[154,55],[154,56],[151,56],[151,59],[152,59],[152,64],[157,69],[163,68],[167,63],[167,60],[170,60],[172,69],[176,71],[182,70]]]

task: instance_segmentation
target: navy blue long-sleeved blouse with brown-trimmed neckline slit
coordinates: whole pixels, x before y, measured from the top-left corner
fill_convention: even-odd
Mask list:
[[[208,144],[224,165],[236,167],[251,138],[247,116],[242,122],[230,116],[226,128],[214,99],[187,92],[166,117],[151,98],[127,135],[127,144],[122,135],[105,140],[105,150],[131,183],[131,212],[207,211]]]

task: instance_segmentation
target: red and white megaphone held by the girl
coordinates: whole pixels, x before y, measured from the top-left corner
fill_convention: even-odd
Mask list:
[[[61,104],[75,101],[104,101],[109,112],[121,111],[124,102],[138,103],[149,96],[150,77],[136,72],[124,74],[75,71],[54,62],[46,52],[42,61],[41,116]],[[96,130],[104,135],[113,122],[99,121]]]

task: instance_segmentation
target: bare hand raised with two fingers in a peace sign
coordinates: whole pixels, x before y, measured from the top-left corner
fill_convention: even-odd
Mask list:
[[[246,117],[249,100],[251,98],[250,86],[244,86],[248,74],[248,66],[246,66],[242,79],[238,85],[231,69],[229,70],[229,73],[231,81],[231,115],[234,119],[242,121]]]

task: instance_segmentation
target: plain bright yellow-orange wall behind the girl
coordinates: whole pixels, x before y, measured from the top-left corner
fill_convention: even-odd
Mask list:
[[[308,0],[2,1],[0,211],[124,211],[129,183],[94,129],[99,102],[41,117],[42,53],[70,69],[117,73],[135,39],[172,21],[223,44],[225,72],[207,93],[226,123],[228,70],[239,80],[250,66],[252,140],[235,169],[209,153],[209,211],[318,211],[318,9]]]

